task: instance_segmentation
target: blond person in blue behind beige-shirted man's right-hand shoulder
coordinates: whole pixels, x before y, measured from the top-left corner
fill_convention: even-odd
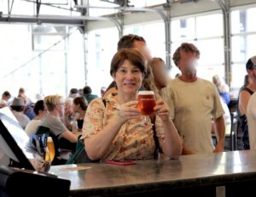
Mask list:
[[[230,104],[230,87],[219,78],[218,75],[212,76],[212,82],[216,86],[219,95],[224,99],[224,102],[229,105]]]

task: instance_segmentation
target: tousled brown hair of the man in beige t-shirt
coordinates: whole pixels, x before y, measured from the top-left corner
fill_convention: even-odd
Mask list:
[[[189,53],[189,52],[195,53],[197,58],[200,57],[200,51],[198,50],[198,48],[195,47],[194,44],[188,43],[188,42],[183,42],[181,44],[181,46],[176,49],[175,53],[173,53],[172,59],[173,59],[175,65],[178,65],[178,63],[179,63],[181,50],[183,50],[184,52],[187,52],[187,53]]]

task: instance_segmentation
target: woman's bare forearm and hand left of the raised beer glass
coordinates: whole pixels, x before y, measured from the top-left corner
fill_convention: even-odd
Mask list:
[[[123,104],[107,127],[104,127],[101,132],[97,132],[90,138],[84,138],[85,149],[90,160],[101,159],[125,121],[140,116],[140,110],[136,106],[137,101]]]

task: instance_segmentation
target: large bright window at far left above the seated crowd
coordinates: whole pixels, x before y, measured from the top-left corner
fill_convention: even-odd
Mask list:
[[[32,35],[41,40],[33,40]],[[84,39],[77,27],[58,26],[47,35],[32,25],[2,24],[0,42],[4,53],[0,65],[5,65],[0,72],[1,92],[9,90],[15,96],[24,87],[34,100],[38,93],[67,96],[69,88],[84,87]],[[32,49],[32,42],[37,50]]]

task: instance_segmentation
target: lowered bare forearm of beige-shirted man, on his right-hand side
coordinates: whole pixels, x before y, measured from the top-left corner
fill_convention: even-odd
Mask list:
[[[224,117],[220,116],[214,120],[216,126],[216,136],[218,138],[218,144],[213,150],[214,153],[223,152],[224,151],[224,138],[225,138],[225,124]]]

